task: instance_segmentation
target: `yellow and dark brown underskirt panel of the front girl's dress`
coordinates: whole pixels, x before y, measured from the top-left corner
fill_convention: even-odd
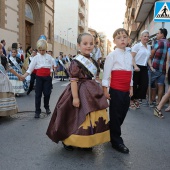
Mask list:
[[[63,143],[80,148],[89,148],[109,141],[109,121],[106,109],[104,109],[89,113],[77,131],[63,140]]]

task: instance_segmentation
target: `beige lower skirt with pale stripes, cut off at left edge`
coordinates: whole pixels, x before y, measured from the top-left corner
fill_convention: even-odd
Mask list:
[[[0,116],[9,116],[18,112],[14,93],[0,92]]]

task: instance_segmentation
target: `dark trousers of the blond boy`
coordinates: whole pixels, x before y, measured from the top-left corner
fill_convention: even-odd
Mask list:
[[[35,88],[35,113],[41,113],[41,97],[44,94],[44,108],[49,109],[49,100],[52,88],[51,76],[36,76],[36,88]]]

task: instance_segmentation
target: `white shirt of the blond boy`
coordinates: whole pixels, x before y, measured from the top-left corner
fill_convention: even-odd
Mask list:
[[[27,73],[31,74],[32,71],[40,68],[49,68],[50,72],[53,72],[52,69],[53,65],[53,60],[51,55],[45,53],[44,55],[41,55],[40,53],[37,53],[36,56],[31,60],[31,63],[29,65],[28,70],[26,71]]]

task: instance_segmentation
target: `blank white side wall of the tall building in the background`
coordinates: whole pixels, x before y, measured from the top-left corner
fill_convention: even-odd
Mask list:
[[[77,44],[78,0],[55,0],[54,34]],[[72,28],[68,30],[68,28]]]

